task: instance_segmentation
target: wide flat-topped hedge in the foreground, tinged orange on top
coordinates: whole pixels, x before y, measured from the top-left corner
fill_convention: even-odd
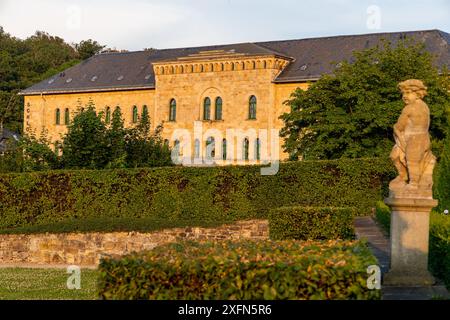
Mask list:
[[[100,299],[379,299],[376,259],[349,241],[184,242],[99,265]]]

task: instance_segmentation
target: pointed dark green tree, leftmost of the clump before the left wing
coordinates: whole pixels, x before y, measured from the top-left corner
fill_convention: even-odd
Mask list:
[[[102,114],[97,115],[92,102],[73,118],[62,143],[65,168],[101,169],[110,162],[110,147]]]

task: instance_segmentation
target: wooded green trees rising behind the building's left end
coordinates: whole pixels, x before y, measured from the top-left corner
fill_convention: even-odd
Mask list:
[[[0,26],[0,125],[22,132],[23,97],[18,93],[103,48],[91,39],[71,45],[42,31],[22,40],[11,36]]]

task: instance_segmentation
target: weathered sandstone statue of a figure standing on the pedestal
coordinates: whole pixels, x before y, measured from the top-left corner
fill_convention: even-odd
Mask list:
[[[422,100],[427,87],[415,79],[403,81],[398,87],[405,107],[394,125],[395,146],[390,157],[399,175],[389,184],[389,197],[432,199],[436,158],[428,133],[430,110]]]

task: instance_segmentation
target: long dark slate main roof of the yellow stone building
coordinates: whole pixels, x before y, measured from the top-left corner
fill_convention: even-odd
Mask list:
[[[274,82],[316,80],[330,73],[340,61],[351,61],[353,51],[371,48],[382,39],[396,43],[412,38],[424,43],[436,56],[436,65],[450,67],[450,34],[440,30],[374,33],[333,36],[300,40],[239,43],[194,48],[148,50],[95,55],[49,79],[39,82],[20,94],[91,92],[155,87],[152,62],[176,60],[200,51],[234,50],[245,56],[276,55],[292,62]]]

